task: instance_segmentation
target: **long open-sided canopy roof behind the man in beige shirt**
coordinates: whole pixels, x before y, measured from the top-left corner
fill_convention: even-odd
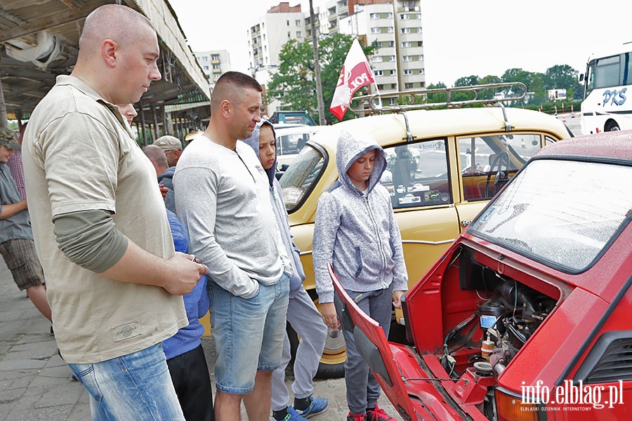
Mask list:
[[[167,0],[2,0],[0,114],[6,107],[9,119],[29,118],[55,84],[55,77],[72,71],[84,20],[103,4],[134,8],[152,22],[158,34],[162,79],[153,82],[136,104],[140,142],[162,134],[183,139],[190,129],[201,128],[210,112],[209,81]]]

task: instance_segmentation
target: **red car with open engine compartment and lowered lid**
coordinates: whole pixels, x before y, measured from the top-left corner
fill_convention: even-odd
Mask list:
[[[339,288],[404,420],[632,419],[632,131],[534,156],[405,296],[409,345]]]

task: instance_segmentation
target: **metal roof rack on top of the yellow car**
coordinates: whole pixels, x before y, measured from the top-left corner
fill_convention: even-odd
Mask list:
[[[503,88],[503,91],[507,91],[510,88],[512,93],[511,96],[502,95],[501,97],[492,98],[492,99],[479,99],[478,96],[487,89],[499,89]],[[514,92],[516,91],[516,92]],[[468,92],[473,95],[473,98],[470,100],[464,101],[452,101],[452,93],[455,92]],[[427,100],[428,94],[433,93],[445,93],[446,100],[445,102],[423,102],[421,104],[415,104],[415,97],[422,96],[423,100]],[[404,112],[412,109],[431,109],[431,108],[439,108],[439,107],[447,107],[447,108],[459,108],[468,105],[476,105],[482,104],[488,107],[494,106],[502,106],[503,102],[512,102],[519,101],[522,98],[525,98],[527,95],[527,86],[525,83],[521,82],[503,82],[503,83],[487,83],[485,85],[472,85],[472,86],[456,86],[454,88],[435,88],[435,89],[416,89],[409,91],[398,91],[398,92],[389,92],[389,93],[374,93],[370,95],[362,95],[355,98],[352,98],[353,102],[360,102],[360,105],[363,108],[353,108],[350,107],[351,111],[356,114],[364,114],[366,112],[374,112],[376,114],[384,114],[385,112]],[[408,98],[411,104],[404,105],[390,105],[384,107],[382,105],[382,100],[386,100],[388,98]],[[367,109],[365,106],[369,105]]]

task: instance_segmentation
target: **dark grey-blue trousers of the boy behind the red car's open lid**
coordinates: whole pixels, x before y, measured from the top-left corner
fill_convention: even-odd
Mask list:
[[[384,330],[386,338],[390,330],[390,316],[393,312],[393,283],[383,290],[360,293],[346,290],[360,309],[371,319],[378,322]],[[340,300],[334,294],[334,300]],[[345,384],[347,386],[347,405],[352,414],[364,414],[367,408],[373,408],[380,397],[380,385],[369,365],[355,347],[353,332],[343,329],[347,345],[347,361],[345,361]]]

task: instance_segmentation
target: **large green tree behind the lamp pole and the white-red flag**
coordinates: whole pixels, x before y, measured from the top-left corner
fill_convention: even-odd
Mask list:
[[[334,98],[338,76],[353,39],[351,35],[331,34],[322,36],[318,41],[325,119],[329,122],[337,121],[336,116],[329,111],[329,105]],[[362,50],[369,57],[376,48],[363,46]],[[305,109],[310,115],[317,115],[315,63],[311,41],[288,41],[281,48],[279,63],[277,72],[272,74],[272,80],[268,83],[268,102],[270,99],[279,100],[285,108]],[[345,119],[353,118],[350,114],[346,114]]]

